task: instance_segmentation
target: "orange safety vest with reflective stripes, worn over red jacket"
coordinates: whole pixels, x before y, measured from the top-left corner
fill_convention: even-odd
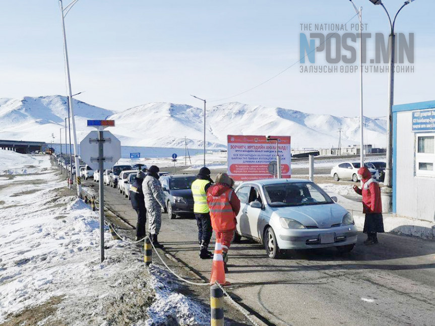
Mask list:
[[[229,202],[232,192],[232,189],[228,189],[219,196],[207,194],[213,230],[224,232],[235,229],[235,214]]]

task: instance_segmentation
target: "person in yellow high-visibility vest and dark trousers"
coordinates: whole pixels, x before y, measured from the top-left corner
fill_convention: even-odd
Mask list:
[[[207,205],[207,189],[212,185],[210,170],[202,167],[198,173],[198,179],[192,183],[192,194],[194,197],[194,214],[198,224],[198,243],[200,245],[200,258],[210,259],[213,253],[208,250],[212,237],[212,226],[210,211]]]

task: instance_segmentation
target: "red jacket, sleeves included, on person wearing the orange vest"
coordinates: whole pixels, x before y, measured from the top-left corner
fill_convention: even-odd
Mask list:
[[[240,201],[228,185],[218,183],[207,190],[207,204],[213,230],[225,232],[235,229]]]

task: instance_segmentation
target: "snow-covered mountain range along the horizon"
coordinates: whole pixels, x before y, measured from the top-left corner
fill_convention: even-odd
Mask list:
[[[59,127],[68,116],[63,96],[0,99],[0,139],[58,142]],[[115,134],[123,146],[203,147],[204,111],[184,104],[149,103],[114,113],[74,102],[79,141],[93,128],[87,119],[114,119]],[[385,146],[384,118],[364,118],[366,143]],[[359,117],[309,114],[279,107],[226,103],[207,108],[207,148],[226,147],[227,135],[289,135],[293,148],[337,147],[339,127],[342,146],[359,144]],[[64,134],[63,134],[64,135]],[[62,137],[63,137],[62,135]]]

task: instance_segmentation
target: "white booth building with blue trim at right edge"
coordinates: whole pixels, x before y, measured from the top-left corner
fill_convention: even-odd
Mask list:
[[[393,107],[393,213],[435,221],[435,101]]]

